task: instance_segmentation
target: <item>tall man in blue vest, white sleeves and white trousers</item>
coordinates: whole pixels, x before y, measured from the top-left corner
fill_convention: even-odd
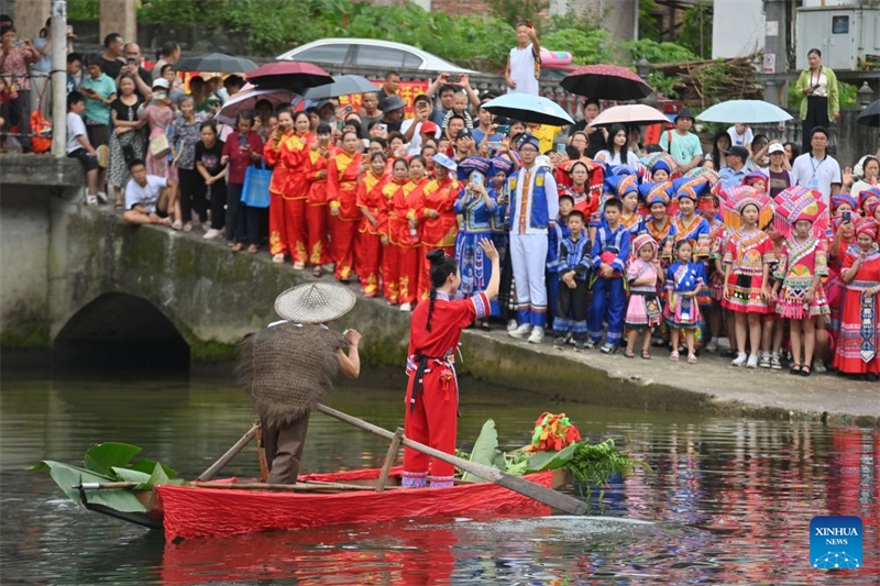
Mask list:
[[[529,336],[529,342],[543,342],[547,325],[548,229],[556,226],[559,215],[559,191],[553,173],[537,163],[540,141],[531,134],[521,139],[519,155],[522,166],[508,179],[510,204],[507,226],[510,230],[510,262],[514,268],[519,325],[512,338]]]

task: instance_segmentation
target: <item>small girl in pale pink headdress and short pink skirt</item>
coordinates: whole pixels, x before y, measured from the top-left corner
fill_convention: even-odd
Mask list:
[[[657,257],[659,250],[657,242],[650,234],[640,234],[632,241],[636,259],[626,269],[629,283],[629,306],[626,311],[625,324],[626,351],[624,356],[634,358],[636,339],[644,331],[641,357],[651,358],[651,333],[660,325],[660,300],[657,297],[657,284],[662,281],[663,273],[660,270],[660,261]]]

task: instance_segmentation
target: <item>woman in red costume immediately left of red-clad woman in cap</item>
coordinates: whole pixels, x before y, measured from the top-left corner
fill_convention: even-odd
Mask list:
[[[395,165],[396,166],[396,165]],[[421,253],[421,239],[419,234],[418,215],[421,206],[421,192],[431,181],[427,175],[428,163],[421,156],[414,156],[409,161],[409,181],[404,188],[394,194],[392,209],[396,217],[394,225],[397,226],[398,262],[397,262],[397,300],[400,311],[411,311],[416,302],[416,291],[419,285],[419,255]]]

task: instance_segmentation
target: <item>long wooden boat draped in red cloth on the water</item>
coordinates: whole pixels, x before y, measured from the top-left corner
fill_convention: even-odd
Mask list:
[[[164,529],[168,540],[477,512],[536,516],[551,511],[547,505],[493,483],[400,489],[396,486],[399,467],[392,469],[384,491],[377,491],[380,474],[380,468],[306,474],[296,490],[289,491],[245,489],[248,483],[237,488],[234,478],[198,486],[163,485],[136,493],[147,509],[144,513],[119,512],[82,500],[90,510]],[[524,478],[554,488],[564,482],[564,473],[542,472]]]

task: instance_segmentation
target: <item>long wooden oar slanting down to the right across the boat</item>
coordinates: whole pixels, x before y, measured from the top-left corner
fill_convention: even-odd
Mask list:
[[[360,428],[371,433],[375,433],[376,435],[381,435],[386,440],[394,439],[394,433],[392,433],[391,431],[380,428],[378,425],[367,423],[366,421],[343,413],[342,411],[337,411],[336,409],[327,407],[326,405],[318,403],[317,410],[326,416],[330,416],[332,418],[339,419],[340,421],[344,421],[345,423],[350,423],[355,428]],[[477,464],[476,462],[469,462],[466,460],[455,457],[453,455],[447,454],[446,452],[435,450],[433,447],[430,447],[422,443],[415,442],[406,436],[403,439],[402,443],[407,447],[416,450],[417,452],[421,452],[422,454],[427,454],[433,458],[440,460],[448,464],[452,464],[457,468],[461,468],[464,472],[469,472],[474,476],[483,478],[484,480],[495,483],[499,486],[507,488],[508,490],[513,490],[514,493],[519,493],[520,495],[525,495],[529,498],[537,500],[538,502],[543,502],[544,505],[553,509],[560,510],[562,512],[568,512],[569,515],[584,515],[586,512],[586,502],[584,502],[583,500],[578,500],[574,497],[570,497],[569,495],[563,495],[562,493],[558,493],[552,488],[547,488],[546,486],[531,483],[518,476],[513,476],[510,474],[499,471],[498,468],[484,466],[483,464]]]

